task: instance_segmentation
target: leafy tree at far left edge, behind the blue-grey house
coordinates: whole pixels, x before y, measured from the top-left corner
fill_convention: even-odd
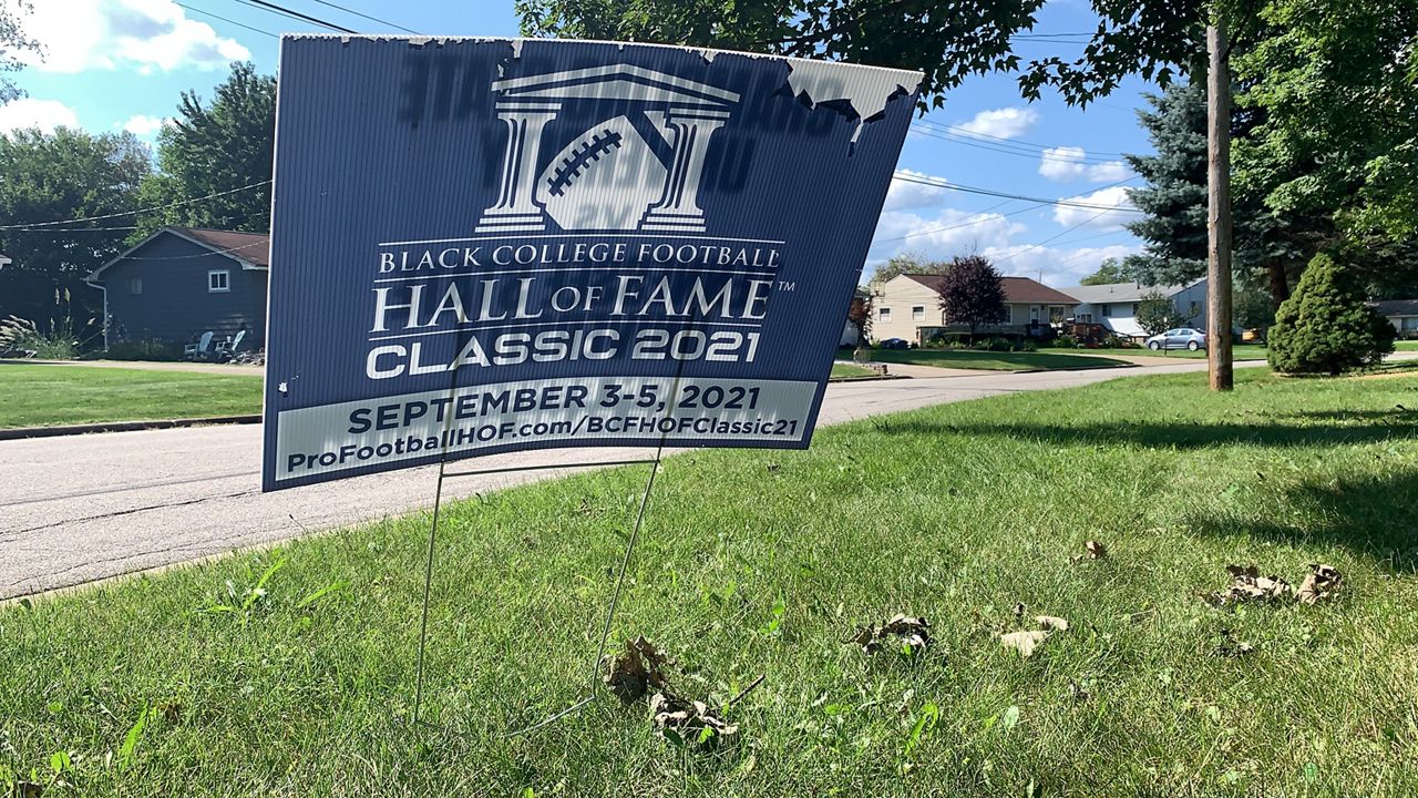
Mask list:
[[[149,173],[147,149],[132,133],[0,135],[0,250],[14,263],[0,270],[0,318],[17,315],[52,328],[72,312],[81,338],[102,329],[102,295],[84,277],[123,248],[125,217],[91,224],[48,224],[123,213],[135,207]],[[26,226],[30,227],[26,227]],[[58,297],[58,302],[55,302]]]

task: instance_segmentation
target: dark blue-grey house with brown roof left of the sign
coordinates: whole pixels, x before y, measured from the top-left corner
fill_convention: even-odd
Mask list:
[[[245,331],[242,349],[264,345],[271,237],[163,227],[84,281],[104,291],[104,346],[174,344]]]

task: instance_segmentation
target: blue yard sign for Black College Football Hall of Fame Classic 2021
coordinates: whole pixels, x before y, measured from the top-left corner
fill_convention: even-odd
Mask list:
[[[919,78],[284,38],[264,488],[516,449],[805,447]]]

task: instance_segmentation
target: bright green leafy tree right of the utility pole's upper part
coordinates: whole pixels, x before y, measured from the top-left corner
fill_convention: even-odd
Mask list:
[[[1332,216],[1344,243],[1418,236],[1418,0],[1268,0],[1259,18],[1235,58],[1261,112],[1236,185]]]

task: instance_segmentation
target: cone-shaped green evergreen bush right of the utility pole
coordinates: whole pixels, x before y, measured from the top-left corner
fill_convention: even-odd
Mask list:
[[[1394,351],[1394,327],[1364,304],[1350,270],[1317,254],[1275,314],[1266,359],[1285,373],[1337,375],[1378,365]]]

